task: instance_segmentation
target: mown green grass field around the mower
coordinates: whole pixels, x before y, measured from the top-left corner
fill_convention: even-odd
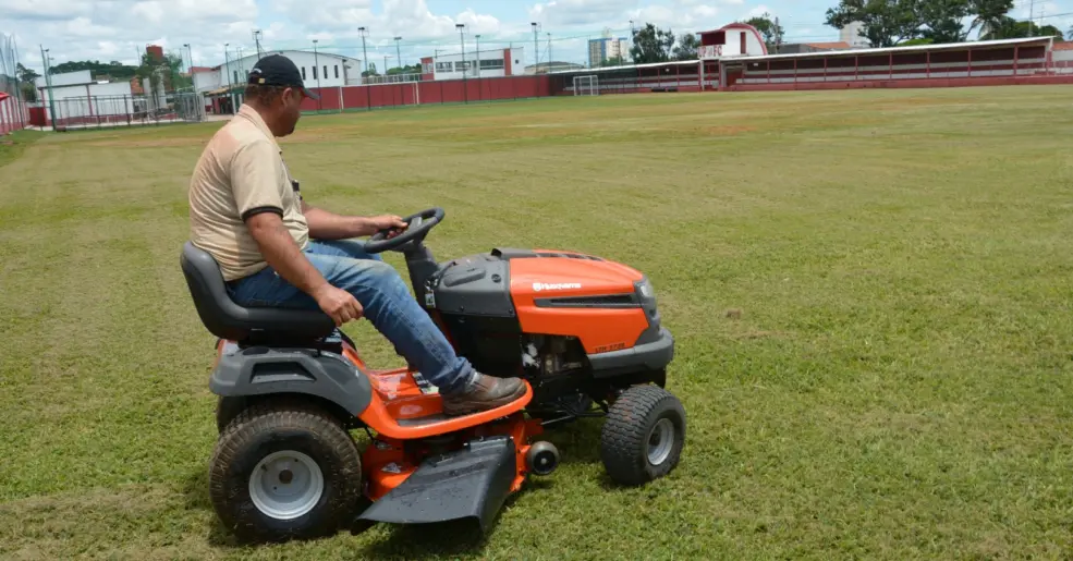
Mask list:
[[[0,168],[0,558],[1068,558],[1071,94],[303,119],[282,145],[314,204],[443,206],[441,258],[558,247],[655,282],[691,423],[679,469],[615,488],[599,423],[578,423],[486,539],[379,526],[234,546],[206,489],[214,340],[179,269],[187,178],[220,124],[20,145]],[[398,364],[366,322],[347,331]]]

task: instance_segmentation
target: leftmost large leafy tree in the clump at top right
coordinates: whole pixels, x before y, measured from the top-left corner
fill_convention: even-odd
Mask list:
[[[928,1],[928,0],[924,0]],[[916,0],[841,0],[827,10],[827,25],[842,28],[861,22],[861,36],[873,47],[893,47],[917,36]]]

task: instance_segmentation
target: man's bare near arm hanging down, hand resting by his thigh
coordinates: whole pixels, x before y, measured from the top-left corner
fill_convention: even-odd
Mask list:
[[[363,309],[357,300],[351,293],[328,283],[302,254],[279,215],[254,215],[246,219],[246,227],[257,241],[265,261],[284,280],[313,296],[320,309],[336,321],[337,327],[362,317]]]

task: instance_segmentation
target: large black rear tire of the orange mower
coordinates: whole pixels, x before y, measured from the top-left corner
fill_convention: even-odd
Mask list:
[[[255,467],[263,459],[281,451],[305,454],[316,464],[322,481],[310,486],[321,492],[308,512],[291,520],[269,515],[251,497],[251,475]],[[294,472],[290,467],[279,472],[278,481],[267,475],[260,481],[271,481],[264,485],[276,489],[276,485],[292,483],[294,478],[301,483],[315,472],[304,467],[302,460],[291,465]],[[271,467],[258,472],[272,473]],[[308,477],[317,479],[314,475]],[[209,495],[224,527],[241,541],[329,536],[346,527],[355,514],[362,497],[361,454],[339,419],[313,404],[297,400],[256,403],[235,417],[217,441],[209,468]],[[316,495],[308,496],[310,502],[313,497]]]

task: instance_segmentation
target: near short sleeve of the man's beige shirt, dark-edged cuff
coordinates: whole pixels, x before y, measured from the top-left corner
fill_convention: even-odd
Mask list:
[[[243,221],[260,212],[283,216],[279,191],[281,162],[271,143],[254,142],[239,148],[231,159],[231,190]]]

